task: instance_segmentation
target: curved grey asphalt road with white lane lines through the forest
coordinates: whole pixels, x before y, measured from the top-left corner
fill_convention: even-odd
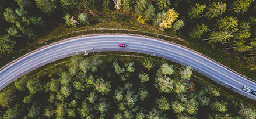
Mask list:
[[[118,47],[120,43],[127,44],[127,48]],[[221,64],[184,46],[156,38],[128,34],[93,34],[69,38],[27,53],[22,58],[0,69],[0,89],[44,64],[71,56],[73,53],[99,51],[139,52],[173,60],[185,66],[191,66],[192,69],[227,88],[256,100],[255,95],[241,90],[244,85],[256,90],[256,82],[248,80],[243,75],[234,73],[225,66],[223,67]]]

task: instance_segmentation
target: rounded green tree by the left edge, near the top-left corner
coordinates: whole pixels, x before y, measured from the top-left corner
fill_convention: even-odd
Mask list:
[[[3,16],[5,16],[5,20],[9,23],[15,23],[18,19],[17,15],[13,12],[12,8],[6,8],[5,12],[3,13]]]

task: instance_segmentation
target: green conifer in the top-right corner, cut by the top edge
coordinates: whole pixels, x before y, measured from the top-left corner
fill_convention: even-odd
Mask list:
[[[254,0],[253,0],[254,1]],[[243,15],[244,12],[247,12],[248,8],[251,6],[250,0],[237,0],[231,6],[231,11],[237,15]]]

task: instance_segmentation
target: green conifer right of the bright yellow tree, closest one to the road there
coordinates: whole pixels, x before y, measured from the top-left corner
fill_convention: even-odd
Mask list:
[[[192,28],[190,38],[202,38],[202,35],[208,30],[209,28],[206,24],[197,24],[194,28]]]

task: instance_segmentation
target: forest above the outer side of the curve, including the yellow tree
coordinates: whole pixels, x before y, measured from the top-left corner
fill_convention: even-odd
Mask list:
[[[188,47],[215,60],[219,57],[220,63],[255,80],[254,0],[1,0],[0,6],[2,66],[54,29],[72,32],[75,27],[93,27],[117,18],[117,23],[136,21],[176,34],[192,43]]]

